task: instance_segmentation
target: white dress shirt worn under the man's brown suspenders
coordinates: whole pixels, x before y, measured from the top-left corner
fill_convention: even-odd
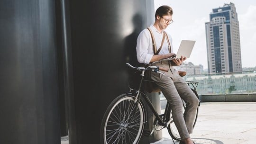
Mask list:
[[[153,32],[153,35],[155,37],[156,49],[158,50],[159,47],[161,46],[164,32],[163,31],[162,33],[158,32],[158,30],[153,25],[151,25],[149,28]],[[169,34],[167,35],[171,45],[171,53],[174,53],[172,37]],[[137,60],[139,63],[146,63],[146,64],[150,63],[150,60],[154,55],[154,50],[153,50],[152,38],[150,36],[150,32],[146,28],[143,31],[141,31],[139,36],[137,37],[136,51],[137,51]],[[164,44],[159,54],[168,54],[168,53],[169,53],[168,43],[165,37]]]

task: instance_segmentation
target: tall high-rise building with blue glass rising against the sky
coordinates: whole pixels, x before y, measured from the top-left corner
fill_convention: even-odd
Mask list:
[[[235,4],[212,9],[205,23],[209,73],[242,71],[238,14]]]

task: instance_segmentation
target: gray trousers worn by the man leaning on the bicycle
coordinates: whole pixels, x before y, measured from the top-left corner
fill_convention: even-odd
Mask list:
[[[165,74],[151,72],[151,79],[160,87],[167,101],[171,104],[174,124],[182,140],[190,138],[193,131],[193,122],[196,116],[196,109],[199,100],[190,89],[184,79],[178,74],[169,62],[153,63],[152,65],[161,66],[169,69]],[[183,102],[186,102],[186,108],[183,115]]]

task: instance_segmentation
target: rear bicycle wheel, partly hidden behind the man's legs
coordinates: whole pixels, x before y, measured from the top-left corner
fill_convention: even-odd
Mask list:
[[[167,129],[168,129],[168,133],[169,135],[171,135],[171,137],[176,140],[176,141],[180,141],[181,140],[181,136],[178,132],[178,129],[177,127],[175,126],[174,124],[174,119],[172,118],[172,111],[171,111],[171,108],[169,108],[170,110],[170,119],[171,119],[171,123],[167,126]],[[184,111],[185,111],[185,102],[183,100],[183,114],[184,114]],[[197,107],[197,110],[196,110],[196,117],[194,119],[194,124],[193,124],[193,128],[196,124],[196,121],[197,121],[197,117],[198,117],[198,111],[199,111],[199,107]]]

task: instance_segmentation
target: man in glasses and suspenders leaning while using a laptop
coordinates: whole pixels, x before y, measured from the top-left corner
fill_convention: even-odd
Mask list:
[[[190,134],[192,134],[193,119],[196,115],[199,100],[178,74],[178,71],[173,68],[173,66],[181,65],[186,60],[186,57],[182,56],[179,59],[159,62],[161,59],[176,56],[173,53],[171,36],[165,35],[165,29],[173,22],[172,15],[173,9],[169,6],[161,6],[156,10],[155,23],[149,29],[146,28],[141,31],[137,37],[137,60],[139,63],[152,64],[169,69],[169,72],[163,72],[165,76],[151,72],[150,77],[160,87],[165,98],[171,104],[174,123],[182,138],[180,144],[193,144]],[[156,48],[152,45],[154,41]],[[160,51],[157,51],[159,49]],[[187,103],[184,116],[180,97]]]

